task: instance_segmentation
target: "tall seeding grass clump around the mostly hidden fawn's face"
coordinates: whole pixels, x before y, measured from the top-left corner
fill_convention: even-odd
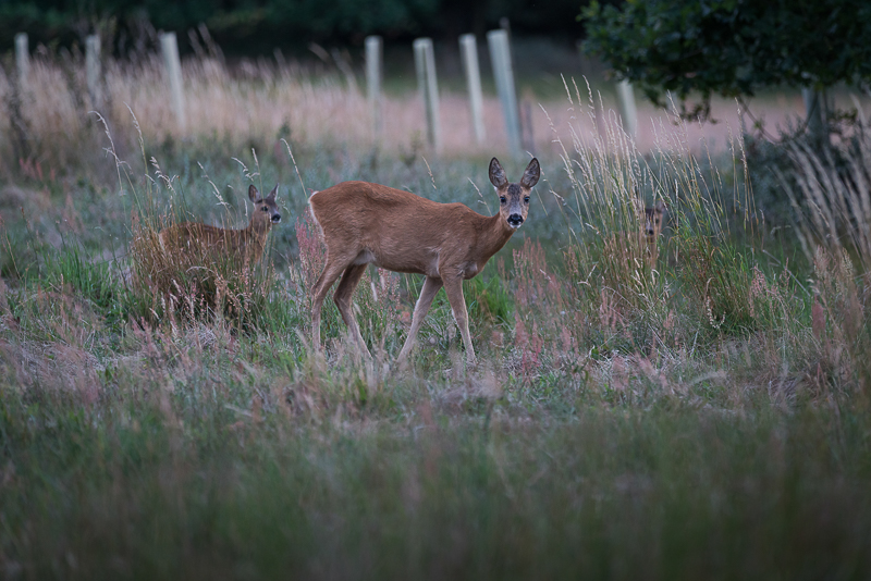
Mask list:
[[[691,150],[686,129],[668,120],[651,121],[659,144],[642,153],[617,119],[597,119],[601,104],[592,91],[575,86],[569,99],[586,115],[572,125],[569,143],[555,134],[571,190],[552,193],[568,231],[574,339],[651,353],[667,327],[680,334],[697,326],[712,337],[778,325],[780,319],[761,322],[753,309],[762,295],[751,300],[752,281],[766,275],[755,264],[752,246],[738,242],[746,237],[752,245],[756,228],[740,138],[729,144],[723,175],[722,161],[707,149]],[[651,249],[643,210],[658,201],[667,208],[666,228]]]

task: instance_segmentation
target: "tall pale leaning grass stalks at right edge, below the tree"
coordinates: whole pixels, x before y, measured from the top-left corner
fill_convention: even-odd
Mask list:
[[[781,182],[796,207],[797,233],[813,262],[817,375],[871,388],[868,296],[871,292],[871,133],[864,120],[842,144],[844,164],[831,149],[790,147],[798,191]],[[834,347],[839,345],[839,347]]]

